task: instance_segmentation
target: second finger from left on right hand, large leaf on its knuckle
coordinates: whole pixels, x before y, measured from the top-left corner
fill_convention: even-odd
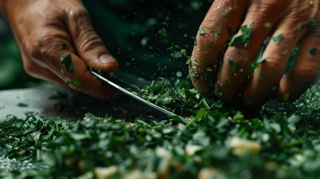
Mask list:
[[[243,30],[236,35],[250,38],[246,42],[239,42],[240,44],[236,41],[230,42],[219,73],[216,89],[218,97],[229,102],[240,99],[249,75],[249,63],[256,58],[276,22],[287,13],[280,11],[284,9],[284,5],[285,3],[279,2],[277,6],[259,1],[252,2],[241,27]]]

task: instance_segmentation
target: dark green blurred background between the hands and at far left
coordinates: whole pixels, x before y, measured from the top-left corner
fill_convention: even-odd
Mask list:
[[[120,70],[144,78],[172,77],[188,66],[170,54],[182,48],[191,54],[194,36],[212,0],[84,0],[94,28]],[[158,34],[165,28],[166,37]],[[10,29],[0,19],[0,89],[52,86],[23,70]],[[167,48],[173,47],[169,50]]]

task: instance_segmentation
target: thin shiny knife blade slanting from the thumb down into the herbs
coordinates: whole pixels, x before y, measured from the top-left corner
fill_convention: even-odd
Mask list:
[[[139,90],[139,86],[148,86],[151,84],[151,82],[143,79],[143,78],[138,78],[135,76],[132,76],[130,74],[127,73],[123,73],[120,71],[115,71],[112,73],[109,73],[106,77],[101,76],[100,74],[91,71],[91,73],[93,75],[95,75],[96,77],[98,77],[99,79],[101,79],[102,81],[107,82],[109,85],[115,87],[116,89],[122,91],[123,93],[131,96],[132,98],[139,100],[145,104],[147,104],[148,106],[157,109],[158,111],[168,115],[168,116],[178,116],[164,108],[161,108],[135,94],[133,94],[132,92],[126,90],[125,88],[133,88],[135,90],[137,90],[138,92]],[[180,117],[180,116],[179,116]],[[181,118],[181,117],[180,117]]]

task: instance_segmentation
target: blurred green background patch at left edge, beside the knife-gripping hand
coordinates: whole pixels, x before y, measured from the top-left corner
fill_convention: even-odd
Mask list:
[[[10,27],[0,16],[0,90],[27,87],[52,87],[49,82],[28,75]]]

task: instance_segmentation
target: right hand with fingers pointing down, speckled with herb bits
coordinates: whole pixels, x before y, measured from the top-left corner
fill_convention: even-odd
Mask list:
[[[319,71],[319,7],[318,0],[215,0],[196,36],[189,65],[194,86],[202,93],[215,90],[219,98],[243,101],[249,107],[261,106],[273,97],[284,102],[295,101],[310,87]],[[232,41],[239,25],[246,28],[237,32],[237,38]],[[269,35],[274,39],[248,79],[249,64],[255,66],[252,62]],[[224,53],[226,41],[231,41],[231,45]],[[296,60],[283,76],[296,45],[299,49]],[[218,74],[222,56],[223,65]]]

